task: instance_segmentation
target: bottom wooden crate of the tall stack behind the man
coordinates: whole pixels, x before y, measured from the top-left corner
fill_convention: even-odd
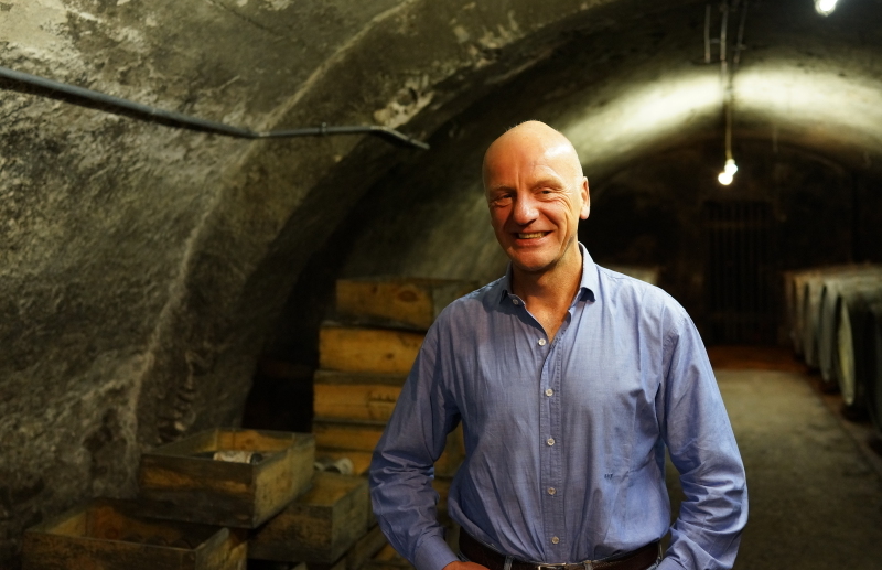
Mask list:
[[[385,422],[348,421],[342,419],[314,418],[312,431],[319,456],[349,458],[356,474],[367,471],[370,455],[377,447]],[[435,474],[453,476],[465,456],[462,426],[448,434],[447,445],[434,464]]]

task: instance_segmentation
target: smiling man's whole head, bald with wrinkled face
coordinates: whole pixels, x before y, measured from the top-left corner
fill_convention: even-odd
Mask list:
[[[496,239],[516,270],[581,267],[577,229],[591,206],[566,137],[536,121],[507,131],[484,155],[484,191]]]

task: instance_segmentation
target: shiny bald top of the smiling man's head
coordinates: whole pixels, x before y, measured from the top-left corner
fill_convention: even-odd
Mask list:
[[[582,179],[582,163],[570,140],[545,122],[526,121],[507,130],[484,153],[484,190],[491,190],[491,173],[502,161],[519,157],[531,161],[551,161],[559,172],[573,181]]]

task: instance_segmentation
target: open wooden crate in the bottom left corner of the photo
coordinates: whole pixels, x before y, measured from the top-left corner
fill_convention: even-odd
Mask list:
[[[245,531],[155,520],[136,502],[95,499],[24,534],[23,570],[244,570]]]

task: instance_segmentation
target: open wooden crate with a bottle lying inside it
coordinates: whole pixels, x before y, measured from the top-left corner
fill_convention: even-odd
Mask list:
[[[263,459],[251,465],[200,456],[217,450]],[[144,453],[140,495],[149,516],[256,528],[309,487],[314,461],[310,433],[208,430]]]

